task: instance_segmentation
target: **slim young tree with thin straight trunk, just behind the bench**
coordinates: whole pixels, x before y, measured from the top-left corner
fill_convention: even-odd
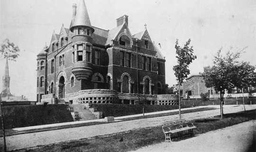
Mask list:
[[[179,118],[181,119],[181,84],[183,80],[188,77],[190,74],[189,64],[192,63],[193,60],[196,59],[196,55],[193,55],[193,46],[190,45],[191,40],[189,39],[186,44],[182,47],[179,46],[178,39],[176,40],[176,58],[177,58],[177,65],[174,65],[174,74],[176,76],[176,80],[178,81],[179,85]]]

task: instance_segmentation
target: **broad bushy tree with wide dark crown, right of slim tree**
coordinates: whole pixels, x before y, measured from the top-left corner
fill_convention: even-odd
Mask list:
[[[238,53],[229,51],[225,56],[221,55],[221,49],[219,49],[217,55],[214,56],[213,66],[204,67],[202,76],[206,87],[214,87],[215,90],[219,91],[221,118],[223,118],[223,96],[225,90],[229,91],[235,87],[243,88],[255,80],[255,66],[250,65],[248,62],[238,61],[244,49]]]

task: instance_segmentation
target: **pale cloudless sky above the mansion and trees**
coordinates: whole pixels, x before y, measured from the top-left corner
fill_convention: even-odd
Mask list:
[[[0,41],[5,38],[19,46],[17,62],[9,62],[10,90],[36,100],[36,58],[49,45],[53,30],[69,27],[76,0],[0,0]],[[220,47],[248,46],[242,60],[256,65],[256,0],[85,0],[92,26],[116,27],[116,18],[126,14],[129,29],[136,34],[147,24],[156,44],[162,44],[166,83],[175,81],[175,40],[180,45],[191,38],[197,59],[191,73],[203,72],[212,64]],[[234,49],[234,50],[235,50]],[[4,72],[0,59],[0,77]],[[2,81],[0,81],[0,91]]]

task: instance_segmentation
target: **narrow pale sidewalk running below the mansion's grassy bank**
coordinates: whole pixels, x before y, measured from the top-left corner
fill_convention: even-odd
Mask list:
[[[210,106],[189,107],[189,108],[181,109],[181,112],[182,113],[198,112],[198,111],[205,111],[205,110],[213,110],[216,108],[219,108],[219,106],[210,105]],[[145,113],[144,116],[143,116],[143,114],[119,116],[119,117],[115,117],[115,122],[135,120],[135,119],[141,119],[141,118],[149,118],[149,117],[155,117],[155,116],[176,115],[178,111],[179,111],[179,109],[174,109],[174,110],[165,110],[165,111]],[[6,135],[26,134],[26,133],[33,133],[33,132],[39,132],[39,131],[64,129],[64,128],[79,127],[79,126],[86,126],[86,125],[97,125],[97,124],[105,124],[105,123],[113,123],[113,122],[107,122],[107,120],[105,118],[103,118],[103,119],[91,119],[91,120],[48,124],[48,125],[35,125],[35,126],[7,129]],[[2,135],[0,135],[0,136],[2,136]]]

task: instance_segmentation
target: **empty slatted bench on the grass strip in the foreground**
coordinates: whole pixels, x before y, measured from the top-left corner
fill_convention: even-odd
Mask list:
[[[179,137],[183,136],[183,133],[186,131],[188,132],[187,134],[192,136],[194,134],[194,128],[196,128],[196,126],[187,121],[163,124],[162,129],[165,134],[165,142],[172,142],[172,137],[174,137],[174,134],[177,134]]]

